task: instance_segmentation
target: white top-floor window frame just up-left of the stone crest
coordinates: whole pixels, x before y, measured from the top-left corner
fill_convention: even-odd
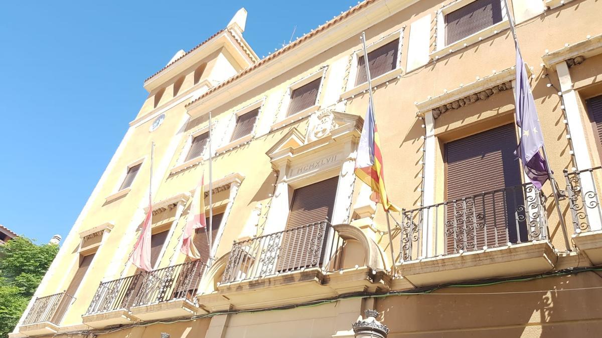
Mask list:
[[[315,72],[293,82],[288,86],[287,91],[284,93],[284,97],[282,98],[280,110],[278,111],[278,118],[276,118],[277,122],[272,124],[272,130],[282,128],[287,124],[293,123],[294,121],[300,120],[304,117],[308,117],[313,112],[316,112],[318,111],[318,109],[320,109],[320,96],[322,93],[322,88],[324,87],[324,82],[326,81],[327,69],[328,66],[320,67],[320,69],[316,70]],[[305,108],[302,111],[298,111],[287,117],[288,107],[291,104],[291,95],[293,94],[293,91],[300,87],[303,87],[304,85],[318,78],[320,79],[320,86],[318,87],[318,93],[315,96],[314,105],[309,106],[308,108]]]

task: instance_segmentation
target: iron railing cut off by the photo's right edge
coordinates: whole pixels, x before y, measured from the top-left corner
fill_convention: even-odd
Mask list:
[[[571,173],[565,169],[564,176],[575,233],[602,229],[602,209],[597,185],[602,176],[602,167]]]

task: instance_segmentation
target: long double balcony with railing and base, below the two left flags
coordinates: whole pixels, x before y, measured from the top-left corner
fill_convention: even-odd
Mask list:
[[[204,268],[205,263],[194,260],[101,283],[82,317],[84,324],[105,327],[194,315]]]

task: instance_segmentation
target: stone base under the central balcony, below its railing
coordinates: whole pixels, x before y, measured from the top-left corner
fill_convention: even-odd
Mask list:
[[[382,291],[385,283],[368,278],[370,268],[323,272],[320,268],[220,284],[216,292],[198,295],[208,312],[247,310],[331,298],[349,292]]]

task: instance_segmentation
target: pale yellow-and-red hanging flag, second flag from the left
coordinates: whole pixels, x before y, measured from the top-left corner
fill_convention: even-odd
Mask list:
[[[182,247],[180,251],[188,257],[193,259],[200,259],[199,251],[193,244],[194,241],[194,230],[204,228],[207,226],[205,221],[205,174],[200,179],[199,186],[194,190],[194,196],[192,198],[192,205],[190,206],[190,214],[188,214],[188,221],[184,227],[184,238],[182,239]]]

